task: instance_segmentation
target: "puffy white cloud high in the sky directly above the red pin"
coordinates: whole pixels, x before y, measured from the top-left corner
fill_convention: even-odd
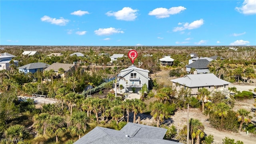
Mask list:
[[[137,18],[139,10],[133,10],[130,7],[124,7],[122,10],[117,12],[108,11],[107,16],[114,16],[117,20],[133,21]]]

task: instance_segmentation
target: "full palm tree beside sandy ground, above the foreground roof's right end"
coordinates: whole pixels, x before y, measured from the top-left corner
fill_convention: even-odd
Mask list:
[[[162,102],[155,102],[151,108],[150,114],[153,116],[154,120],[157,121],[157,127],[159,127],[159,122],[164,120],[164,117],[168,115],[168,112]]]

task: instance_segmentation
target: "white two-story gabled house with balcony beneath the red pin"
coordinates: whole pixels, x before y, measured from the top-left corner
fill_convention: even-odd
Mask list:
[[[148,78],[148,73],[149,70],[144,70],[132,65],[124,70],[121,70],[121,72],[118,74],[119,77],[125,79],[122,80],[120,78],[118,80],[118,85],[120,86],[122,84],[124,86],[124,92],[133,92],[133,88],[135,88],[135,92],[139,92],[143,84],[148,86],[148,80],[150,80],[150,78]]]

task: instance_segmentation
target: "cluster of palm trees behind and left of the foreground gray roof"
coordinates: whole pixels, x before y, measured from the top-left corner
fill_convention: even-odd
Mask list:
[[[58,136],[63,134],[63,132],[70,132],[72,136],[80,138],[88,131],[89,122],[106,124],[109,118],[112,118],[118,125],[122,118],[129,122],[130,112],[134,113],[133,122],[136,122],[136,115],[141,113],[146,107],[142,100],[126,99],[122,101],[111,93],[108,94],[107,98],[100,99],[93,97],[85,98],[82,94],[75,92],[68,94],[59,92],[57,98],[62,102],[62,110],[67,106],[70,116],[64,118],[60,115],[41,113],[34,116],[33,125],[38,135],[55,135],[56,142],[58,142]]]

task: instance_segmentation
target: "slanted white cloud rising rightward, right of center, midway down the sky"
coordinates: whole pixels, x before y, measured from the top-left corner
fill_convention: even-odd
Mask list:
[[[191,22],[190,24],[188,22],[183,23],[183,26],[177,26],[173,29],[174,32],[182,31],[182,30],[192,30],[194,28],[199,28],[204,24],[204,20],[201,18],[200,20],[195,20],[194,22]],[[180,22],[178,23],[180,25]]]

